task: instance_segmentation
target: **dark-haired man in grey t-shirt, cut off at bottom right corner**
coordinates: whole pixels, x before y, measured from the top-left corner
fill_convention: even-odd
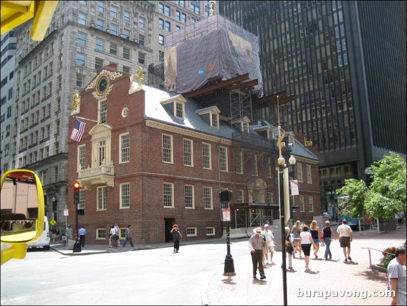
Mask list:
[[[390,305],[407,304],[407,279],[404,267],[407,261],[407,253],[404,247],[398,247],[393,258],[387,266],[389,278],[389,290],[394,291],[391,295]]]

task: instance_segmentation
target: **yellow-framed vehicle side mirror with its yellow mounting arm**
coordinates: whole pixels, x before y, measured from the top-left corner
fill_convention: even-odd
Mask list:
[[[0,216],[1,264],[24,259],[27,244],[44,229],[44,192],[37,174],[18,169],[2,176]]]

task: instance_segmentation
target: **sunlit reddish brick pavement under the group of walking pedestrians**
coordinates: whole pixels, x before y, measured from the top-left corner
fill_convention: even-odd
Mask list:
[[[377,231],[354,232],[351,244],[352,262],[345,263],[338,241],[332,241],[332,260],[323,260],[325,247],[320,248],[318,259],[310,260],[311,271],[305,272],[303,259],[293,259],[294,271],[287,271],[288,305],[388,305],[389,297],[299,297],[298,290],[351,290],[372,294],[374,290],[387,290],[387,273],[369,268],[368,251],[364,248],[384,250],[398,247],[406,239],[405,228],[387,233]],[[311,258],[314,256],[311,256]],[[381,252],[371,251],[372,263],[382,257]],[[322,258],[322,259],[321,259]],[[277,264],[265,269],[267,279],[253,280],[250,255],[234,258],[236,276],[224,277],[223,269],[218,270],[208,282],[203,304],[209,305],[282,305],[283,284],[281,252],[273,258]],[[242,271],[247,271],[246,273]],[[365,291],[363,291],[365,290]],[[340,292],[338,292],[340,294]],[[206,300],[207,299],[207,300]]]

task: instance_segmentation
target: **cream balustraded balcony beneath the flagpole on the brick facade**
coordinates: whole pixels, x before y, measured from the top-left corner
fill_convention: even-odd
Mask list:
[[[106,165],[106,162],[103,161],[101,166],[79,169],[78,172],[77,181],[85,190],[91,190],[92,185],[95,184],[106,184],[109,187],[115,186],[115,166],[113,161],[110,162],[110,165]]]

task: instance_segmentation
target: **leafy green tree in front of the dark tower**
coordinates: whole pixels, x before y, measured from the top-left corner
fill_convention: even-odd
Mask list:
[[[369,214],[377,219],[394,218],[394,214],[406,210],[407,167],[405,161],[394,152],[368,167],[370,186],[363,180],[347,179],[337,193],[349,195],[344,204],[350,204],[346,215],[362,217]]]

